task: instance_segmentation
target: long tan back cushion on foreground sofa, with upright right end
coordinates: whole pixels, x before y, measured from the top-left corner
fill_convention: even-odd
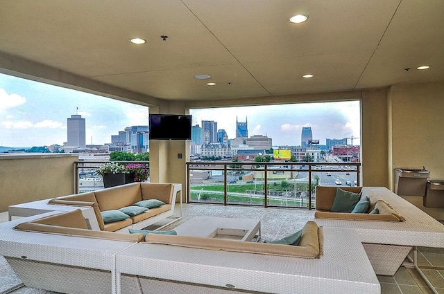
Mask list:
[[[301,241],[302,239],[305,239],[305,241],[303,241],[303,244],[305,244],[305,246],[291,246],[291,245],[282,245],[282,244],[244,242],[244,241],[236,241],[228,239],[157,235],[157,234],[146,235],[145,241],[146,243],[168,244],[168,245],[209,249],[209,250],[248,252],[248,253],[258,253],[264,255],[280,255],[280,256],[302,257],[302,258],[317,258],[320,254],[319,241],[318,241],[318,233],[319,233],[318,226],[314,221],[309,221],[307,224],[302,229],[302,237],[301,237]],[[310,241],[313,241],[314,244],[310,244],[309,243]],[[318,249],[317,251],[316,248]]]

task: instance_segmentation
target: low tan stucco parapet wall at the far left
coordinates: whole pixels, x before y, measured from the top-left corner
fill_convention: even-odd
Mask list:
[[[0,155],[0,212],[9,205],[74,193],[74,154]]]

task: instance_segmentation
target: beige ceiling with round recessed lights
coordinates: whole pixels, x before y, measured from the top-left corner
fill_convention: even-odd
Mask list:
[[[443,12],[441,0],[2,0],[0,71],[26,60],[25,75],[53,68],[166,100],[437,82]]]

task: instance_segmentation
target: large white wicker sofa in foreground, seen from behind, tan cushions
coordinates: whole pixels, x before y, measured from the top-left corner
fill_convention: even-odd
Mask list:
[[[0,255],[26,286],[49,291],[380,293],[355,232],[323,232],[313,221],[300,246],[94,231],[80,210],[10,221],[0,230]]]

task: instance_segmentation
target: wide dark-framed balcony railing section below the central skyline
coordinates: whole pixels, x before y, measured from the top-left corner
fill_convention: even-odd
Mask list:
[[[189,203],[314,208],[317,185],[359,185],[360,163],[187,163]]]

